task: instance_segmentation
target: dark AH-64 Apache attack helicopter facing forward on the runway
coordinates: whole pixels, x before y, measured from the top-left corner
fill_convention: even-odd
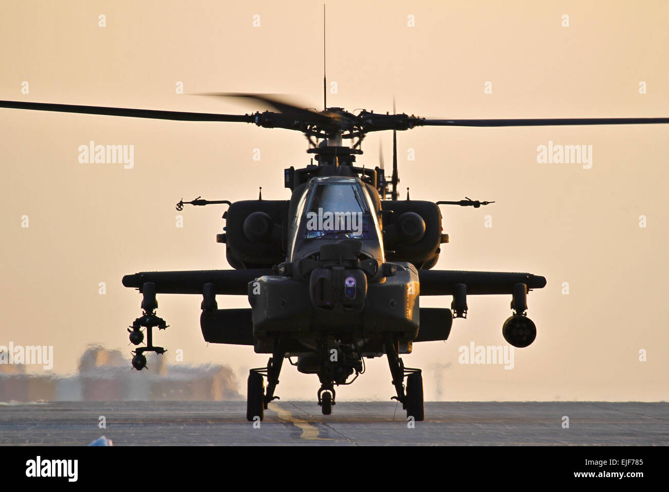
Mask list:
[[[230,95],[230,94],[227,94]],[[431,270],[442,244],[442,204],[487,205],[487,201],[399,199],[397,131],[415,127],[516,127],[538,125],[624,125],[667,123],[669,118],[565,119],[426,119],[407,114],[358,114],[343,108],[306,110],[274,96],[236,94],[267,104],[274,111],[214,114],[70,104],[0,101],[0,107],[181,121],[247,122],[259,127],[304,133],[316,163],[284,171],[287,200],[207,201],[199,197],[177,203],[227,204],[225,232],[216,240],[226,246],[233,270],[140,272],[123,277],[126,287],[142,293],[142,315],[130,341],[147,345],[134,351],[132,365],[145,367],[153,345],[153,328],[165,329],[155,313],[156,295],[201,295],[200,325],[211,343],[252,345],[270,353],[267,367],[250,370],[249,420],[264,416],[278,396],[274,391],[286,357],[304,374],[321,382],[318,404],[332,412],[334,386],[350,384],[364,372],[363,357],[388,359],[396,398],[407,416],[423,420],[421,370],[405,367],[401,354],[421,341],[446,340],[453,317],[466,318],[468,295],[511,296],[512,314],[502,335],[514,347],[527,347],[536,337],[527,317],[527,293],[546,285],[543,276],[512,272]],[[365,135],[393,131],[393,169],[355,165]],[[320,140],[320,143],[318,143]],[[351,145],[343,145],[350,141]],[[216,295],[247,295],[250,308],[218,309]],[[452,296],[450,309],[419,307],[421,296]],[[145,331],[142,331],[145,328]],[[355,376],[354,376],[355,374]],[[351,378],[353,376],[353,378]],[[404,379],[407,379],[406,390]],[[267,388],[264,386],[267,378]]]

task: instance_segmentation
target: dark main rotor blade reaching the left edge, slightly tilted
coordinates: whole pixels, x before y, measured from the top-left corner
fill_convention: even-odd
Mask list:
[[[254,114],[215,114],[207,112],[109,108],[105,106],[79,106],[76,104],[50,104],[47,102],[0,101],[0,108],[74,112],[79,114],[105,114],[108,116],[129,116],[130,118],[153,118],[156,120],[256,122]]]

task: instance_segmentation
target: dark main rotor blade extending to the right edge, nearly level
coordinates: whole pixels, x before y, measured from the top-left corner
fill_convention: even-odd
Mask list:
[[[417,119],[417,127],[547,127],[552,125],[640,125],[669,123],[669,118],[530,118],[494,120]]]

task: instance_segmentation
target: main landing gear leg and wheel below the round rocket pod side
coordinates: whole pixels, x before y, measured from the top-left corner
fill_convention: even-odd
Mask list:
[[[404,367],[402,359],[397,354],[397,340],[391,333],[383,335],[383,345],[385,354],[388,358],[390,374],[393,376],[393,386],[397,400],[402,404],[402,408],[407,411],[407,418],[413,417],[416,422],[421,422],[425,418],[423,410],[423,376],[421,370],[412,367]],[[404,376],[407,376],[407,392],[404,393]]]

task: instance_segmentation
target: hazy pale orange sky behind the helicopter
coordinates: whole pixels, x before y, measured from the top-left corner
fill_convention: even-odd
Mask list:
[[[321,15],[313,1],[5,2],[0,98],[263,109],[177,94],[183,82],[186,93],[279,92],[320,109]],[[328,83],[337,83],[330,106],[385,112],[395,96],[400,112],[440,118],[669,116],[664,1],[338,1],[327,15]],[[0,109],[0,135],[0,345],[53,345],[61,373],[76,370],[89,343],[129,354],[126,327],[140,314],[140,295],[121,285],[124,274],[229,268],[215,242],[225,209],[185,208],[177,228],[179,199],[250,199],[258,186],[266,199],[288,199],[282,171],[309,157],[299,133],[235,123]],[[470,297],[469,317],[454,322],[447,343],[415,344],[404,360],[423,368],[426,400],[667,399],[668,135],[669,125],[398,134],[402,196],[409,186],[413,199],[496,201],[442,208],[451,242],[436,268],[548,280],[529,296],[539,334],[516,349],[513,370],[458,363],[462,345],[505,344],[510,296]],[[367,137],[359,163],[377,165],[379,139],[389,161],[384,133]],[[78,147],[90,141],[133,145],[134,167],[80,163]],[[591,169],[538,163],[537,147],[549,141],[591,145]],[[407,161],[409,149],[415,161]],[[158,299],[171,325],[155,339],[169,349],[165,357],[182,349],[185,363],[229,364],[241,388],[248,369],[266,363],[252,347],[207,346],[200,297]],[[218,304],[248,305],[244,297]],[[316,397],[316,376],[286,364],[280,380],[283,398]],[[337,392],[339,400],[392,395],[385,358],[367,360],[367,374]]]

